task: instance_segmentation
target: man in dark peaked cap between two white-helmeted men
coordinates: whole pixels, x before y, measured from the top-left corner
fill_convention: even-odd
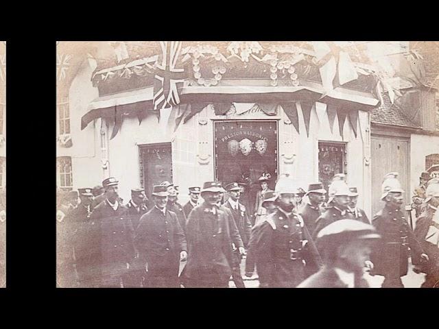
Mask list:
[[[313,183],[309,184],[308,192],[305,194],[308,197],[308,202],[299,210],[305,226],[309,232],[314,232],[316,229],[316,221],[322,215],[322,204],[326,198],[327,191],[323,188],[323,184]]]

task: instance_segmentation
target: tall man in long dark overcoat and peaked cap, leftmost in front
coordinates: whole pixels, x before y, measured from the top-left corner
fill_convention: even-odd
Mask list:
[[[95,264],[93,286],[120,288],[135,257],[133,228],[128,209],[119,201],[118,185],[114,177],[102,182],[106,199],[96,206],[90,217],[99,232],[99,239],[90,246]]]

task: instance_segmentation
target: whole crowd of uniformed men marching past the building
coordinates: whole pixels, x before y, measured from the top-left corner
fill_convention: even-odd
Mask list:
[[[372,221],[343,174],[334,176],[329,191],[320,182],[305,191],[288,175],[272,191],[270,175],[263,175],[254,212],[241,202],[243,182],[193,186],[182,206],[171,182],[155,185],[151,200],[143,188],[133,188],[123,204],[118,181],[107,178],[102,186],[60,197],[58,284],[221,288],[231,278],[244,288],[243,274],[257,273],[260,287],[352,288],[368,287],[368,271],[384,277],[382,287],[403,287],[411,257],[414,271],[426,273],[422,287],[434,287],[439,179],[422,178],[414,231],[397,173],[383,179],[384,206]]]

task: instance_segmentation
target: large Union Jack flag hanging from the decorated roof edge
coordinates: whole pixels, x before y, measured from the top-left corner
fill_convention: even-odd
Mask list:
[[[180,103],[177,84],[185,81],[185,70],[177,69],[176,64],[181,52],[181,41],[161,41],[162,56],[156,62],[156,75],[154,76],[154,97],[152,99],[154,110],[176,106]]]

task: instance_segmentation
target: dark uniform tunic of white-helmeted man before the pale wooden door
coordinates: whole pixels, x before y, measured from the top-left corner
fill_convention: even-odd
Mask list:
[[[385,205],[383,210],[373,217],[372,225],[381,235],[381,240],[371,254],[372,263],[375,265],[373,273],[397,279],[407,275],[409,247],[414,258],[418,258],[423,249],[405,220],[403,212]]]

